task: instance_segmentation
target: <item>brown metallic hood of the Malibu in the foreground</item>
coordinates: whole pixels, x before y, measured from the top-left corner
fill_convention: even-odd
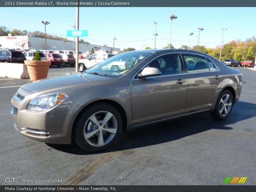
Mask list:
[[[111,78],[88,73],[73,73],[34,81],[23,85],[21,88],[29,92],[40,92],[51,89],[59,90],[60,88],[74,88],[91,82],[102,81],[106,79]]]

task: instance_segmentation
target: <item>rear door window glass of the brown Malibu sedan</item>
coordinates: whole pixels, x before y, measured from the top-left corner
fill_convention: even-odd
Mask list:
[[[187,64],[188,73],[209,71],[205,57],[193,54],[182,54],[182,56]]]

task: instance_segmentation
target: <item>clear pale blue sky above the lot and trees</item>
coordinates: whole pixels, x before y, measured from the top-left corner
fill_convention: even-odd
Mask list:
[[[1,26],[44,32],[41,20],[47,20],[51,23],[46,32],[63,37],[76,21],[75,7],[1,7],[0,12],[6,16],[1,20]],[[155,33],[153,22],[157,21],[156,48],[160,49],[169,43],[169,16],[176,14],[178,19],[173,21],[171,41],[175,48],[188,45],[190,32],[194,33],[190,45],[197,45],[198,27],[204,28],[199,45],[214,48],[222,40],[221,28],[228,29],[224,34],[224,43],[255,36],[255,12],[255,7],[80,7],[79,29],[88,29],[87,41],[91,44],[113,46],[116,35],[115,47],[121,50],[127,47],[141,49],[142,45],[154,47],[154,40],[151,39],[154,39]]]

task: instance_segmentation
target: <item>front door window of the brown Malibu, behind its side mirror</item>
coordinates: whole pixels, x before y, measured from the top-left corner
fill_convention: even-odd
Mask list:
[[[168,54],[151,61],[146,67],[155,67],[161,75],[174,75],[181,73],[180,58],[178,54]]]

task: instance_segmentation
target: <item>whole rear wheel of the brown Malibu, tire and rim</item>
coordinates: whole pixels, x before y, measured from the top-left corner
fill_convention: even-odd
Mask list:
[[[216,120],[224,120],[230,115],[233,105],[234,98],[232,93],[228,90],[223,90],[217,99],[214,111],[210,112],[210,115]]]

